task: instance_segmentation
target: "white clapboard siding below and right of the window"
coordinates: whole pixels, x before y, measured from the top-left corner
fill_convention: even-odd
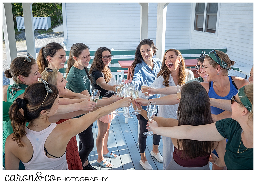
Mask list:
[[[191,22],[194,25],[194,20]],[[253,3],[220,3],[217,37],[215,34],[194,31],[193,25],[191,49],[227,47],[227,54],[230,60],[236,61],[236,67],[251,68],[253,65]],[[229,71],[229,74],[245,77],[234,71]]]

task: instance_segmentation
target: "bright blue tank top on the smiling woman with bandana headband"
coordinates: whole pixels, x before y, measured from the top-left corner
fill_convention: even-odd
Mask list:
[[[228,76],[228,77],[229,77],[229,83],[230,83],[230,90],[229,90],[228,95],[224,96],[224,97],[217,95],[216,92],[214,91],[213,87],[212,87],[213,83],[209,82],[209,92],[208,92],[209,98],[216,98],[216,99],[221,99],[221,100],[231,100],[231,97],[237,94],[238,89],[237,89],[236,84],[232,80],[231,76]],[[220,114],[223,111],[224,110],[222,110],[222,109],[211,106],[211,113],[212,114],[215,114],[215,115]]]

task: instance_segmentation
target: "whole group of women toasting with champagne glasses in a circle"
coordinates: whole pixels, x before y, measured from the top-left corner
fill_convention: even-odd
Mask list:
[[[200,77],[194,79],[179,50],[167,50],[162,61],[154,58],[156,52],[154,42],[144,39],[132,64],[133,83],[141,90],[140,81],[146,80],[152,95],[147,99],[140,91],[133,100],[134,108],[141,110],[137,115],[141,166],[153,169],[145,155],[147,136],[143,134],[150,129],[154,133],[151,155],[164,169],[209,169],[209,161],[213,169],[253,169],[253,67],[250,83],[229,76],[234,61],[213,50],[198,58],[195,67]],[[96,163],[111,168],[104,157],[118,157],[107,145],[112,112],[130,105],[132,98],[116,96],[109,68],[111,50],[98,48],[88,70],[89,48],[73,44],[63,77],[58,70],[65,65],[65,55],[60,44],[49,43],[41,48],[37,61],[29,54],[17,57],[5,71],[14,80],[13,85],[3,86],[3,110],[9,110],[8,115],[3,111],[6,169],[96,169],[88,161],[96,120]],[[97,103],[90,101],[90,82],[92,90],[101,90]],[[178,84],[183,84],[180,100]],[[152,101],[158,109],[148,122],[146,109]]]

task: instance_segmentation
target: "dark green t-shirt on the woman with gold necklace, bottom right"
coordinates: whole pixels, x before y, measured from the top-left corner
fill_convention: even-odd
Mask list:
[[[253,169],[253,148],[248,148],[241,142],[238,154],[238,147],[241,141],[242,128],[240,124],[231,118],[219,120],[216,122],[216,128],[222,137],[228,139],[225,153],[225,164],[229,170],[231,169]]]

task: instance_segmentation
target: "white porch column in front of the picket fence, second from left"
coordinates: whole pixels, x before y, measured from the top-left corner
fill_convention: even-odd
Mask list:
[[[33,3],[22,3],[24,25],[25,25],[25,36],[27,44],[27,52],[36,59],[36,44],[34,35],[34,23],[32,16],[32,5]]]

